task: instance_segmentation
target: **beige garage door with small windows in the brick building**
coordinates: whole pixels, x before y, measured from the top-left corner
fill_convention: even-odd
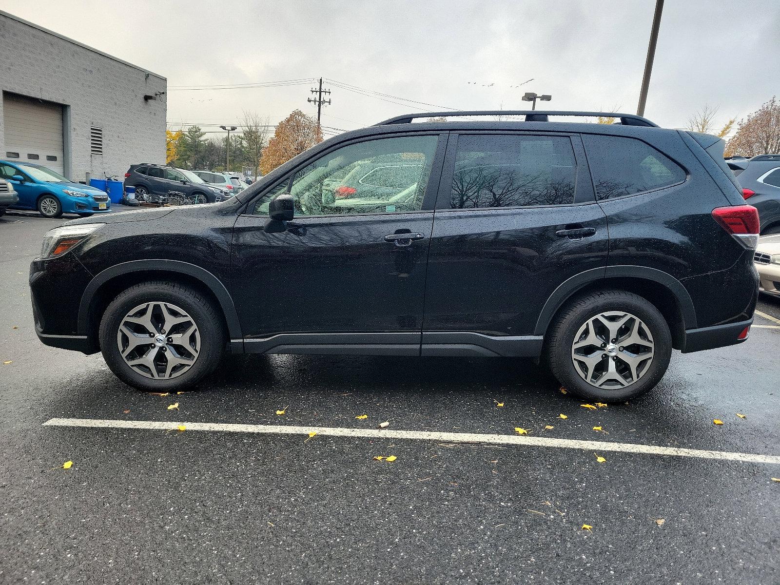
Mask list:
[[[2,110],[5,152],[0,155],[9,161],[34,162],[64,174],[62,106],[3,94]]]

